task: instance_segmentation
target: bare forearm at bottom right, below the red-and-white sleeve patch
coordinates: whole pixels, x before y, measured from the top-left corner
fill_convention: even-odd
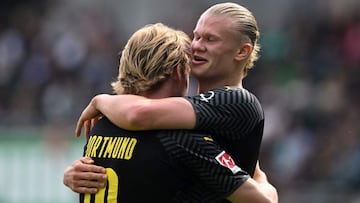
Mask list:
[[[259,163],[255,169],[254,179],[249,178],[227,199],[235,203],[278,203],[279,201],[276,188],[268,182],[266,174],[259,167]]]

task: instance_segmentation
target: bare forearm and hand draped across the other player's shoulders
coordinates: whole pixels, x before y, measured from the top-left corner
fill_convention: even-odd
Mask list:
[[[80,136],[83,126],[88,135],[91,119],[101,114],[127,130],[192,129],[196,122],[192,105],[182,97],[147,99],[136,95],[101,94],[95,96],[82,112],[76,136]]]

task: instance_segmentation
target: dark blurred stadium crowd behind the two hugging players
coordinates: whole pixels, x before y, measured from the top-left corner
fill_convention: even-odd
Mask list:
[[[169,8],[176,15],[165,12],[166,1],[139,8],[149,14],[129,11],[136,9],[130,3],[99,2],[2,3],[0,126],[74,126],[90,98],[111,93],[118,53],[130,33],[161,21],[191,34],[198,15],[217,1],[178,2],[175,10]],[[261,30],[261,58],[245,87],[265,109],[261,162],[280,199],[298,193],[326,199],[316,195],[321,192],[356,198],[359,1],[237,2],[253,11]],[[133,16],[124,19],[119,7]]]

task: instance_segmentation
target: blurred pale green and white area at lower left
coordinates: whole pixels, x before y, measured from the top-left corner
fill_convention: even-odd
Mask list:
[[[62,175],[82,154],[84,139],[54,128],[0,128],[0,134],[1,203],[78,201]]]

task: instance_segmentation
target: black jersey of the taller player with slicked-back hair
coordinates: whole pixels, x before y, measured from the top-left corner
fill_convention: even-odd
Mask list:
[[[252,176],[264,130],[264,112],[258,99],[238,87],[218,88],[186,98],[196,113],[195,129],[212,134]]]

